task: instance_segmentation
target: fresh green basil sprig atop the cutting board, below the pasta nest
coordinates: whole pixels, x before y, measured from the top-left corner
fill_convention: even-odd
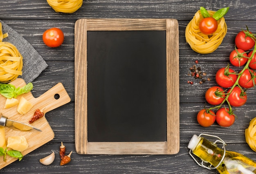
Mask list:
[[[28,93],[32,88],[33,84],[31,82],[21,88],[16,88],[12,84],[0,84],[0,94],[6,98],[16,98],[18,95]]]

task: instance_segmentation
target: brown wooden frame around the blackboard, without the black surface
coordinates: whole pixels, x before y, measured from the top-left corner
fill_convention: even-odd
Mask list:
[[[164,142],[88,142],[87,31],[166,31]],[[180,149],[179,27],[175,19],[79,19],[75,23],[75,146],[78,154],[177,154]]]

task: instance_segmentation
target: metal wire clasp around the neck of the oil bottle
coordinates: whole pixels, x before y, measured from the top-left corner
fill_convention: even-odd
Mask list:
[[[222,143],[222,145],[223,145],[222,148],[223,148],[223,150],[224,150],[224,154],[223,154],[223,156],[222,156],[222,159],[220,160],[220,163],[218,163],[218,165],[216,165],[216,167],[211,167],[211,166],[212,166],[211,164],[210,164],[209,166],[206,166],[206,165],[204,165],[204,163],[208,163],[208,162],[207,162],[207,161],[203,161],[203,160],[201,159],[202,162],[199,163],[199,162],[195,159],[195,157],[193,156],[193,154],[191,153],[191,152],[192,152],[191,149],[189,150],[189,154],[190,154],[190,156],[195,160],[195,162],[196,162],[198,165],[200,165],[201,167],[207,168],[207,169],[209,169],[209,170],[216,169],[217,167],[220,166],[220,164],[222,163],[222,161],[223,161],[224,158],[225,158],[225,154],[226,154],[225,145],[227,145],[227,144],[225,143],[225,141],[223,141],[222,139],[220,139],[220,137],[215,136],[215,135],[200,134],[200,135],[198,136],[198,138],[199,138],[199,137],[202,137],[202,135],[203,135],[203,136],[208,136],[208,137],[214,137],[214,138],[216,138],[217,140],[214,142],[214,144],[216,144],[217,142]]]

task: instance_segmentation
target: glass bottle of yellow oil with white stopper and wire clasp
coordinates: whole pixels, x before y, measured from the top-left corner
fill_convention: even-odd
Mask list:
[[[202,136],[214,137],[217,140],[213,143]],[[222,143],[223,149],[219,148],[217,143]],[[220,174],[256,174],[256,162],[237,152],[227,151],[225,145],[226,143],[217,136],[200,134],[193,135],[188,148],[189,154],[201,167],[216,169]],[[202,160],[201,163],[191,152]]]

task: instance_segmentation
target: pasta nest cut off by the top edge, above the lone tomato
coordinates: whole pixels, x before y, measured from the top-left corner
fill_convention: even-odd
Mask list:
[[[57,13],[74,13],[83,4],[83,0],[47,0],[47,2]]]

